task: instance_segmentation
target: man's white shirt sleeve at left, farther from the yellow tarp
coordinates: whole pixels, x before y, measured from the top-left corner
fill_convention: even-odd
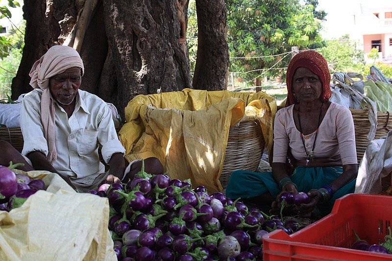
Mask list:
[[[28,98],[23,99],[21,110],[21,130],[23,135],[22,155],[33,151],[40,151],[48,155],[48,142],[44,137],[44,128],[41,123],[40,104],[34,104]]]

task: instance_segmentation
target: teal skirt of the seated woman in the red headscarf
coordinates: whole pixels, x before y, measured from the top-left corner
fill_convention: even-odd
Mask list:
[[[330,184],[343,173],[343,167],[304,167],[297,166],[293,175],[290,176],[293,183],[297,186],[298,192],[309,192],[312,189],[319,189],[324,185]],[[334,192],[331,200],[317,205],[317,210],[321,215],[331,213],[335,200],[345,194],[354,193],[355,181],[344,185],[341,189]],[[226,197],[237,199],[241,197],[252,198],[270,192],[276,197],[281,191],[278,184],[272,177],[272,172],[252,172],[245,170],[234,171],[229,179],[226,188]],[[263,203],[260,202],[260,207]],[[270,206],[264,206],[264,210]]]

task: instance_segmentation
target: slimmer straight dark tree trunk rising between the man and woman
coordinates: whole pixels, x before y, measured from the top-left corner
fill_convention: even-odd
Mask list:
[[[196,0],[196,12],[198,39],[193,87],[224,90],[229,66],[225,2]]]

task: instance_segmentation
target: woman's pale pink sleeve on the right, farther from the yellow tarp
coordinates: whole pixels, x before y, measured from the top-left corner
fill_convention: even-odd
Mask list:
[[[358,164],[355,147],[354,120],[350,110],[342,108],[336,118],[336,136],[342,164]]]

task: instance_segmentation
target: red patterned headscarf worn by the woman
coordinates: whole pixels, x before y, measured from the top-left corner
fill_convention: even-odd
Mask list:
[[[294,99],[292,86],[293,86],[293,76],[298,67],[308,68],[313,73],[319,76],[323,91],[321,98],[323,101],[329,100],[331,97],[331,88],[329,87],[329,82],[331,81],[331,74],[329,73],[328,64],[325,58],[315,51],[303,51],[298,53],[293,57],[289,63],[286,74],[286,84],[287,84],[287,100],[286,107],[294,103],[297,103]]]

